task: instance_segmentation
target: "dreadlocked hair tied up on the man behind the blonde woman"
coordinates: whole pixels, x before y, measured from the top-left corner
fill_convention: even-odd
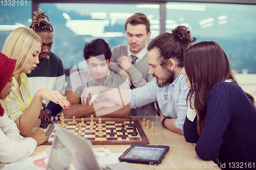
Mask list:
[[[49,12],[50,11],[46,11]],[[35,16],[33,17],[33,22],[30,25],[30,28],[32,30],[35,30],[35,32],[53,32],[52,25],[50,24],[49,18],[47,15],[45,15],[46,12],[42,12],[40,8],[38,8],[38,11],[35,11]],[[47,17],[47,20],[45,19]]]

